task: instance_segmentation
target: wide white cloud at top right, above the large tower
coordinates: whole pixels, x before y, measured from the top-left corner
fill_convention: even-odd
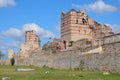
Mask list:
[[[97,0],[96,2],[92,4],[86,4],[82,6],[77,5],[77,4],[72,4],[72,6],[78,9],[85,9],[87,11],[92,11],[92,12],[97,12],[97,13],[112,13],[118,10],[116,7],[104,3],[103,0]]]

